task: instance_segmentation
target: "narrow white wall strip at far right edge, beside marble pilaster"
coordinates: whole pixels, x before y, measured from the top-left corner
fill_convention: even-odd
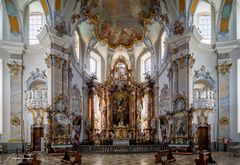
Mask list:
[[[230,135],[233,142],[240,141],[238,128],[238,99],[237,96],[237,60],[240,59],[240,48],[231,52],[232,68],[230,73]]]

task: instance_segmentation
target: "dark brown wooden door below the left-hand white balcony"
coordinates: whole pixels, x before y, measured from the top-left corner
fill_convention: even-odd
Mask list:
[[[32,128],[32,148],[33,151],[41,151],[41,137],[43,137],[43,127]]]

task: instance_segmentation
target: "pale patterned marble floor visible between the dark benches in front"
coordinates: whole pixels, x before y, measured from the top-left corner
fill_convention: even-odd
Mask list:
[[[155,153],[147,154],[82,154],[82,164],[86,165],[153,165]],[[194,159],[197,157],[193,155],[174,155],[176,162],[169,163],[170,165],[194,165]],[[6,161],[9,155],[4,155],[4,165],[15,165],[15,161]],[[41,165],[63,165],[61,162],[62,156],[39,155]],[[217,165],[240,165],[240,157],[233,157],[227,152],[213,152],[213,159]],[[1,163],[0,163],[1,164]]]

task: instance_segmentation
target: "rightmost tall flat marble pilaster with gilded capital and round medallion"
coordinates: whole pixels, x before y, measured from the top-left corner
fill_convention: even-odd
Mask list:
[[[222,58],[224,57],[224,59]],[[226,58],[229,57],[229,58]],[[218,139],[230,138],[230,68],[229,54],[219,54],[218,71]]]

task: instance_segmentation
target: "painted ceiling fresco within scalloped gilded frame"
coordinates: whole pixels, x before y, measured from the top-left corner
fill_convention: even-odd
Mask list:
[[[132,47],[142,41],[158,0],[88,0],[86,14],[99,40],[111,48]]]

